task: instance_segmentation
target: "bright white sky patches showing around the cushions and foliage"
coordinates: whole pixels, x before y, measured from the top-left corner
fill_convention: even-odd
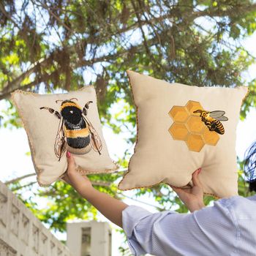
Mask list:
[[[256,56],[256,33],[249,37],[244,41],[244,46],[249,50],[252,55]],[[256,66],[253,65],[249,67],[248,72],[245,72],[244,78],[247,80],[251,80],[256,77],[255,72]],[[246,86],[246,84],[245,84]],[[6,104],[4,101],[0,101],[0,110],[6,108]],[[244,121],[239,121],[237,127],[237,137],[236,137],[236,152],[239,158],[244,158],[244,152],[246,148],[248,148],[255,140],[256,140],[256,132],[255,132],[255,120],[256,120],[256,110],[251,109],[246,116]],[[103,135],[108,145],[108,150],[110,152],[110,157],[114,160],[116,157],[122,157],[124,155],[124,151],[127,149],[127,143],[124,140],[124,134],[115,135],[108,127],[103,127]],[[26,155],[26,152],[29,152],[29,143],[27,140],[26,132],[24,129],[0,129],[0,159],[1,159],[1,167],[0,167],[0,181],[7,181],[11,178],[15,178],[18,176],[23,176],[27,173],[34,173],[34,167],[31,162],[31,157]],[[36,181],[35,176],[31,177],[31,181]],[[117,182],[118,183],[118,182]],[[37,189],[37,186],[34,186]],[[137,205],[143,208],[146,208],[148,211],[157,212],[154,206],[157,205],[154,203],[152,198],[148,198],[146,196],[140,197],[140,202],[137,200],[129,199],[132,197],[134,192],[126,191],[124,195],[127,195],[127,198],[124,199],[124,203],[128,205]],[[42,200],[39,202],[40,207],[44,207],[47,203],[47,200]],[[102,214],[98,214],[100,221],[108,221]],[[110,226],[118,228],[118,226],[110,223]],[[65,234],[55,233],[57,238],[66,239]],[[122,236],[116,233],[113,230],[113,256],[118,256],[118,246],[120,246],[121,241],[123,240]]]

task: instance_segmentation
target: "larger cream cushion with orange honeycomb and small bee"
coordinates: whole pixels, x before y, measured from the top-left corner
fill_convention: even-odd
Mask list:
[[[198,87],[127,71],[137,112],[137,142],[121,190],[165,183],[238,195],[236,126],[247,88]]]

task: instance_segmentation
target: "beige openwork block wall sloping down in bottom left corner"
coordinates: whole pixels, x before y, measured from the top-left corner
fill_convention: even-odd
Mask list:
[[[0,256],[72,256],[0,181]]]

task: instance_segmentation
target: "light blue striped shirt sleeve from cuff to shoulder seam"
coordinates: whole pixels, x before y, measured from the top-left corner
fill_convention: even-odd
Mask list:
[[[122,211],[122,222],[132,255],[230,255],[236,249],[237,230],[226,203],[218,200],[191,214],[152,214],[128,206]]]

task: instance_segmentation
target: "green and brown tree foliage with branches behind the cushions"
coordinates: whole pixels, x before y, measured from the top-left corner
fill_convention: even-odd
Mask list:
[[[256,4],[249,0],[0,1],[0,99],[7,103],[0,112],[1,126],[21,127],[9,101],[15,89],[52,93],[90,83],[97,91],[102,124],[117,134],[128,132],[128,148],[135,142],[136,117],[125,71],[192,86],[244,85],[242,74],[255,58],[242,42],[254,33],[255,18]],[[248,86],[251,93],[241,118],[256,105],[256,80]],[[129,157],[127,150],[119,164],[127,167]],[[121,192],[113,181],[122,174],[89,177],[110,182],[109,187],[95,186],[118,197]],[[20,198],[29,189],[20,181],[10,187]],[[162,209],[179,206],[178,211],[187,211],[165,184],[136,192],[138,197],[144,194],[152,195]],[[44,211],[37,211],[33,198],[25,203],[61,232],[67,219],[96,217],[95,209],[61,181],[39,189],[37,196],[48,197]],[[211,200],[206,197],[206,203]]]

